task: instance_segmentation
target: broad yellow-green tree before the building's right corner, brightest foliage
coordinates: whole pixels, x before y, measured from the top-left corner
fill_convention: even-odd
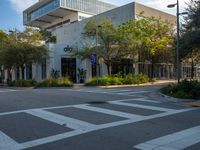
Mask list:
[[[172,60],[173,26],[160,18],[140,16],[139,20],[130,20],[120,29],[121,45],[127,56],[138,61],[151,62],[151,77],[154,77],[155,63]]]

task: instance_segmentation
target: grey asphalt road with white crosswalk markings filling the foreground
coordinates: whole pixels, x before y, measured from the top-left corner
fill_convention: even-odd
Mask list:
[[[158,89],[0,88],[0,150],[200,150],[200,109]]]

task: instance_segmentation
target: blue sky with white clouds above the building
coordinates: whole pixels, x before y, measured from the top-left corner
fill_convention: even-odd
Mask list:
[[[23,30],[22,12],[38,0],[0,0],[0,29],[8,32],[10,29],[17,28]],[[176,3],[176,0],[102,0],[108,3],[121,6],[133,1],[159,9],[171,14],[176,14],[176,9],[169,9],[168,4]],[[184,11],[189,0],[179,0],[181,11]]]

